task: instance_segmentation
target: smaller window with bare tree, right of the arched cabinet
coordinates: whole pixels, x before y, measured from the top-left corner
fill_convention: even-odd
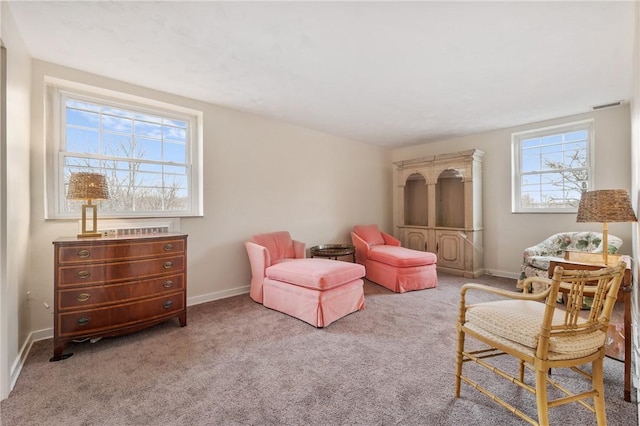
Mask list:
[[[516,133],[514,212],[575,212],[591,186],[592,122]]]

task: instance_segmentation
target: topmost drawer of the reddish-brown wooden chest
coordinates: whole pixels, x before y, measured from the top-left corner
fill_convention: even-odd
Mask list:
[[[58,247],[58,262],[60,264],[78,262],[102,262],[118,259],[136,259],[165,254],[184,253],[185,241],[182,239],[142,242],[142,243],[113,243]]]

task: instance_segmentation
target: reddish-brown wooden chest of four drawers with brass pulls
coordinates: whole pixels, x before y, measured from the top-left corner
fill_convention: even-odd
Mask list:
[[[187,236],[61,238],[55,251],[53,358],[75,339],[117,336],[177,317],[187,325]]]

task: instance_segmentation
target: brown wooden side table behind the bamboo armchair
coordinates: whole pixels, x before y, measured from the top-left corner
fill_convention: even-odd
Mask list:
[[[633,287],[633,280],[631,277],[631,258],[629,256],[622,256],[623,260],[627,264],[627,269],[624,271],[622,277],[622,283],[620,290],[618,290],[619,302],[624,302],[624,400],[631,401],[631,289]],[[553,276],[553,270],[556,266],[562,266],[564,269],[584,269],[593,271],[602,269],[603,265],[596,265],[592,263],[583,263],[568,261],[563,259],[551,260],[549,262],[549,277]],[[617,359],[614,357],[614,359]]]

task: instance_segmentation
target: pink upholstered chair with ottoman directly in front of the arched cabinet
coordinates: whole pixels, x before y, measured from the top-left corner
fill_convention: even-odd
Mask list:
[[[438,285],[434,253],[400,247],[400,241],[381,232],[378,225],[356,225],[351,232],[356,262],[365,278],[396,293]]]

